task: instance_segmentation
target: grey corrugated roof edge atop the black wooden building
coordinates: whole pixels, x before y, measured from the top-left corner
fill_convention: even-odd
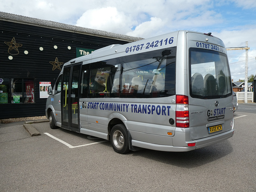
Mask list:
[[[35,24],[35,25],[47,26],[47,27],[51,27],[51,28],[58,28],[60,30],[70,30],[70,31],[82,32],[82,33],[86,33],[86,34],[102,36],[105,38],[107,37],[107,38],[116,38],[119,40],[128,40],[130,42],[134,42],[134,41],[143,39],[140,37],[132,37],[132,36],[127,36],[127,35],[122,35],[122,34],[117,34],[117,33],[112,33],[112,32],[106,32],[106,31],[102,31],[102,30],[84,28],[84,27],[63,24],[63,23],[48,21],[48,20],[42,20],[42,19],[22,16],[22,15],[16,15],[16,14],[11,14],[11,13],[6,13],[6,12],[0,12],[0,20],[1,20],[1,18],[5,19],[5,20],[19,21],[19,22],[24,22],[24,23],[28,23],[28,24]]]

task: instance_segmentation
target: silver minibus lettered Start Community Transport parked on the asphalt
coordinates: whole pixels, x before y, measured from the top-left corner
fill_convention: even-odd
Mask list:
[[[211,33],[95,50],[65,63],[48,94],[50,128],[110,140],[120,154],[190,151],[234,134],[226,48]]]

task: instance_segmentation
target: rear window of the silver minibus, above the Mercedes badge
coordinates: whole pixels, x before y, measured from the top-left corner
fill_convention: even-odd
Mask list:
[[[213,50],[190,48],[190,96],[224,98],[232,94],[226,54]]]

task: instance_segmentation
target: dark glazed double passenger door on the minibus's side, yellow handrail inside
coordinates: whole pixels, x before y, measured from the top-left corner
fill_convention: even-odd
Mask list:
[[[62,90],[62,128],[79,131],[78,80],[81,64],[64,67]]]

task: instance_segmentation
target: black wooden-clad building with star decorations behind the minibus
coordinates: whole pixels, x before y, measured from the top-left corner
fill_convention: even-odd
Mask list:
[[[140,39],[0,12],[0,119],[44,116],[47,85],[65,62]]]

